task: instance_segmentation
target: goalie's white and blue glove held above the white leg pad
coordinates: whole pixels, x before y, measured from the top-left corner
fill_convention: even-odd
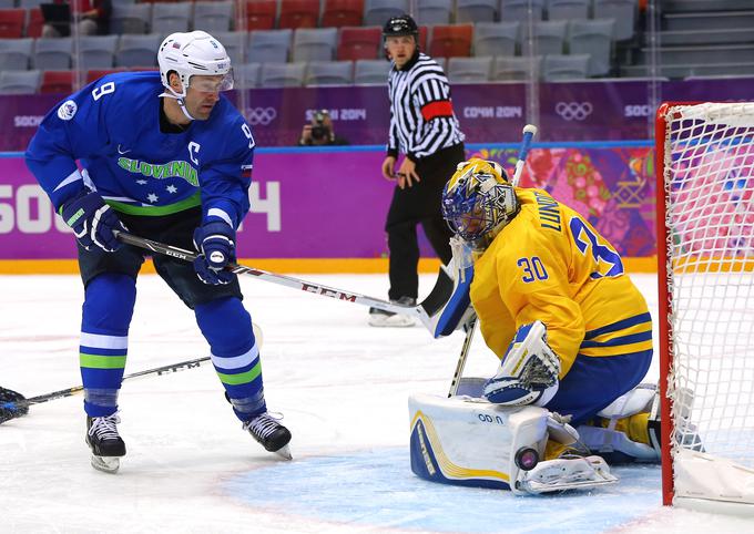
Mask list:
[[[496,404],[541,407],[558,392],[559,373],[560,359],[547,343],[547,327],[534,321],[518,329],[482,394]]]

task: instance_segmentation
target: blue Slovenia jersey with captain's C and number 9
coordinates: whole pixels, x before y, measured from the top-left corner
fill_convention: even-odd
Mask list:
[[[157,72],[109,74],[48,113],[26,158],[55,209],[86,185],[122,213],[201,205],[205,220],[220,214],[238,227],[249,208],[249,126],[221,94],[208,120],[163,133],[162,92]]]

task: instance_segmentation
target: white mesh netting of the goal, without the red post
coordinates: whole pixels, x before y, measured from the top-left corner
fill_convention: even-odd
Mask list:
[[[673,452],[754,469],[754,104],[665,119]]]

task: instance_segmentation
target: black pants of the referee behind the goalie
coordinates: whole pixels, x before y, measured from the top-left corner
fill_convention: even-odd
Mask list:
[[[450,237],[452,233],[440,212],[442,188],[456,172],[456,165],[466,160],[463,144],[444,148],[431,156],[420,158],[416,173],[421,179],[411,187],[395,188],[387,214],[385,232],[390,250],[388,297],[417,298],[419,290],[419,243],[416,227],[421,224],[425,235],[444,264],[452,258]]]

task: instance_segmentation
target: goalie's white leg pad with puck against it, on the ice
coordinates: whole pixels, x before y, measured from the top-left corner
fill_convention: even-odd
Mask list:
[[[409,397],[411,471],[445,484],[538,494],[617,482],[600,456],[542,460],[548,439],[578,432],[533,405],[503,407],[470,397]]]

